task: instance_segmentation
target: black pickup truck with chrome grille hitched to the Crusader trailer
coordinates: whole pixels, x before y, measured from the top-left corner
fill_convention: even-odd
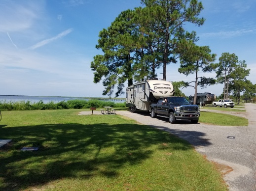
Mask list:
[[[166,117],[169,118],[170,123],[175,123],[176,119],[197,123],[200,116],[200,108],[190,104],[183,97],[161,97],[157,104],[151,104],[149,108],[152,118],[156,116]]]

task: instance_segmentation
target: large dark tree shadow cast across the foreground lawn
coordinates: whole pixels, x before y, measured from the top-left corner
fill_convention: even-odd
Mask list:
[[[150,158],[154,152],[150,146],[164,142],[168,148],[191,149],[176,136],[139,124],[44,124],[0,128],[0,135],[13,141],[9,150],[0,150],[0,190],[4,191],[67,177],[115,177],[124,165]],[[39,150],[20,151],[31,146]]]

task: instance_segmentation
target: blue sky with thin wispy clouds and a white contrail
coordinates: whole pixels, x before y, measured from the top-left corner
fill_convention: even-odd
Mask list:
[[[256,1],[202,3],[200,16],[205,24],[184,27],[197,32],[197,45],[209,46],[217,61],[224,52],[245,60],[251,69],[248,80],[255,84]],[[0,0],[0,94],[103,97],[102,82],[93,83],[90,68],[93,56],[101,53],[95,48],[99,32],[121,11],[140,5],[140,0]],[[168,65],[166,80],[194,80],[194,75],[186,77],[178,68],[179,64]],[[222,87],[218,84],[198,92],[219,96]],[[188,96],[194,89],[183,92]]]

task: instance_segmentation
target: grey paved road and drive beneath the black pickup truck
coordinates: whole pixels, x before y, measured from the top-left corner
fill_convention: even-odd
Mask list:
[[[118,111],[118,114],[175,134],[189,141],[208,160],[226,166],[223,166],[224,180],[230,191],[256,191],[256,104],[246,104],[246,113],[242,114],[248,118],[249,126],[226,127],[189,121],[170,124],[166,118],[152,119],[145,112]]]

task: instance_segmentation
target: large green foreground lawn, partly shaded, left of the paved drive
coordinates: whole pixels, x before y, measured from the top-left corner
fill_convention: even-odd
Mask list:
[[[84,109],[2,111],[1,191],[226,191],[183,139]],[[20,151],[39,147],[38,151]]]

